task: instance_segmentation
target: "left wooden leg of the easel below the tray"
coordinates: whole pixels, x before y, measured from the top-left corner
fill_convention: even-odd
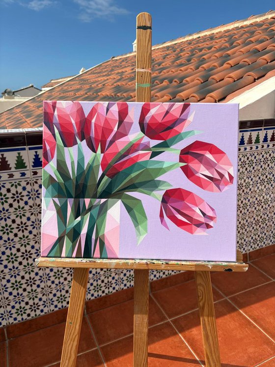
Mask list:
[[[88,275],[89,269],[74,269],[60,367],[76,366]]]

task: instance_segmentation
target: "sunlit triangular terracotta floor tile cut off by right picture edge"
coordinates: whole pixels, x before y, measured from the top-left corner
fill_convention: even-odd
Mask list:
[[[275,282],[239,293],[230,300],[275,339]]]

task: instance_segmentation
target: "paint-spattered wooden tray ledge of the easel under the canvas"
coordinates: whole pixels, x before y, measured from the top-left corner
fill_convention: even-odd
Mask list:
[[[39,257],[35,260],[38,267],[61,268],[104,268],[104,269],[150,269],[150,270],[193,270],[193,271],[247,271],[248,265],[237,252],[238,262],[217,261],[172,261],[172,260],[138,260],[138,259],[85,259]]]

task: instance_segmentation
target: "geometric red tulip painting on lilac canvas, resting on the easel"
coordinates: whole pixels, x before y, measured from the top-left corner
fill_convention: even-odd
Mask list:
[[[236,261],[238,111],[44,102],[41,255]]]

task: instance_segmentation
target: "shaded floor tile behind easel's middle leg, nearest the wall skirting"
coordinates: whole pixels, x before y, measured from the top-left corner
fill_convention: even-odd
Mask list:
[[[133,333],[134,300],[90,313],[89,317],[99,345]],[[165,320],[155,301],[149,298],[149,325]]]

